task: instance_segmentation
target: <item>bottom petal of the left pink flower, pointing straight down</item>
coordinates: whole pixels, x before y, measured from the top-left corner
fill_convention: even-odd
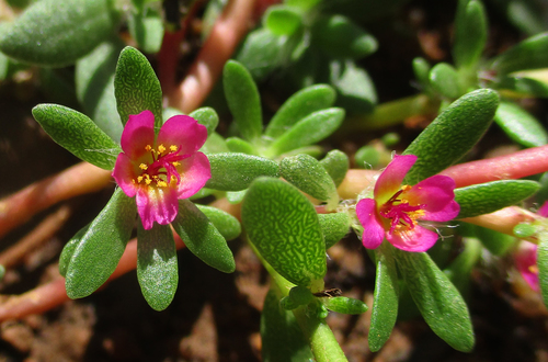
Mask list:
[[[139,188],[137,191],[137,212],[142,227],[150,230],[155,222],[168,225],[176,216],[179,202],[173,188]]]

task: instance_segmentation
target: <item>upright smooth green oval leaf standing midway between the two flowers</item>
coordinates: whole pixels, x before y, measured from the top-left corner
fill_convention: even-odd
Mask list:
[[[261,98],[250,72],[240,63],[228,60],[222,70],[222,86],[242,138],[256,142],[263,129],[263,117]]]

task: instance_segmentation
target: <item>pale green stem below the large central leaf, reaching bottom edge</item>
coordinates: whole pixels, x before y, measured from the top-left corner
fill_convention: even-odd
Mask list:
[[[271,274],[272,281],[278,291],[281,297],[289,295],[289,290],[295,286],[292,282],[283,278],[264,260],[253,244],[248,239],[248,244],[253,249],[264,268]],[[324,319],[318,318],[315,313],[307,314],[307,306],[298,307],[293,310],[302,333],[310,343],[310,350],[317,362],[338,362],[347,361],[341,346],[335,339],[333,331],[329,328]]]

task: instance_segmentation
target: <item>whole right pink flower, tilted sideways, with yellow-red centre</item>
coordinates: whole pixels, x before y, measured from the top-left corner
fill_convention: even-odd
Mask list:
[[[437,234],[418,222],[448,222],[458,215],[452,178],[436,174],[413,186],[401,184],[415,161],[413,155],[395,156],[375,184],[374,199],[357,203],[364,247],[375,249],[386,238],[401,250],[426,251],[436,242]]]

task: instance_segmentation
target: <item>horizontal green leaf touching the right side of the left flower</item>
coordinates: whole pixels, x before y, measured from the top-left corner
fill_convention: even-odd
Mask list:
[[[279,176],[276,162],[246,154],[213,154],[208,155],[212,166],[212,178],[206,186],[221,191],[240,191],[248,189],[251,182],[260,176],[277,178]]]

